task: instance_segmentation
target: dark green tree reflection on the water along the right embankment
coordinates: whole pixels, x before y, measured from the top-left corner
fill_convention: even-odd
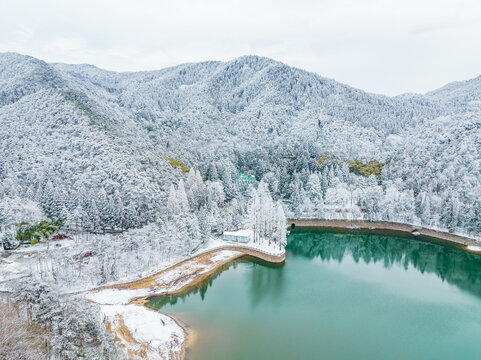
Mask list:
[[[447,246],[377,234],[294,229],[287,250],[294,256],[323,261],[341,262],[351,255],[356,262],[380,262],[386,268],[411,265],[481,298],[481,256]]]

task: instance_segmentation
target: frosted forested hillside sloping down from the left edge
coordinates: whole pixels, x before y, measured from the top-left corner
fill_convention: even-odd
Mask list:
[[[1,195],[27,196],[50,216],[124,209],[115,216],[124,227],[155,219],[175,176],[136,124],[42,61],[0,63]]]

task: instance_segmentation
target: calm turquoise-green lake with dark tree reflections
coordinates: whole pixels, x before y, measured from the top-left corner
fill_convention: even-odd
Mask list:
[[[410,238],[294,229],[283,266],[148,306],[197,332],[189,360],[481,359],[481,256]]]

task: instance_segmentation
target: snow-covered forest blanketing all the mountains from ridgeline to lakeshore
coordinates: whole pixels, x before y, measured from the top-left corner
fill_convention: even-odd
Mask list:
[[[0,60],[3,229],[155,224],[185,252],[242,227],[263,181],[288,217],[479,237],[480,78],[390,98],[255,56],[125,74]]]

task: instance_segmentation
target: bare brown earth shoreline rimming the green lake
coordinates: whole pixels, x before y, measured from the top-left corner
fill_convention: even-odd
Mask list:
[[[403,223],[370,222],[370,221],[361,221],[361,220],[349,221],[349,220],[288,219],[287,224],[288,226],[291,226],[292,224],[294,224],[295,227],[299,227],[299,228],[317,228],[317,229],[320,228],[325,230],[333,230],[336,232],[339,232],[339,231],[342,231],[342,232],[345,231],[349,233],[372,232],[372,233],[384,233],[389,235],[406,236],[415,240],[428,241],[428,242],[433,242],[433,243],[437,243],[445,246],[447,245],[447,246],[455,247],[460,250],[464,250],[471,253],[479,253],[479,252],[469,250],[468,246],[479,247],[481,245],[480,242],[468,237],[450,234],[450,233],[433,230],[433,229],[427,229],[420,226],[403,224]],[[221,253],[222,251],[231,251],[232,254],[224,259],[214,260],[214,258],[218,256],[218,254]],[[168,278],[169,273],[178,272],[176,276],[174,276],[170,280],[173,283],[184,280],[185,282],[182,283],[181,286],[165,289],[164,291],[150,293],[146,296],[133,297],[128,301],[128,305],[146,306],[146,303],[151,297],[178,295],[180,293],[183,293],[189,290],[190,288],[197,286],[199,283],[201,283],[208,277],[212,276],[212,274],[216,273],[222,267],[228,265],[232,261],[239,260],[245,257],[253,257],[271,264],[282,264],[285,262],[286,253],[284,252],[282,253],[282,255],[272,254],[272,253],[269,254],[260,249],[255,249],[252,246],[243,246],[238,244],[226,243],[226,244],[222,244],[217,247],[214,247],[212,249],[207,249],[190,258],[180,261],[177,264],[174,264],[154,275],[151,275],[139,280],[122,283],[122,284],[99,287],[95,290],[101,291],[101,290],[108,290],[108,289],[117,289],[117,290],[128,291],[132,289],[139,289],[142,287],[152,286],[153,280],[155,283],[156,280],[158,281],[162,277]],[[188,271],[191,271],[190,277],[189,277],[189,274],[186,275],[185,270],[184,272],[178,271],[179,269],[182,270],[182,267],[185,266],[186,264],[189,264],[189,262],[194,262],[194,263],[198,263],[202,261],[209,262],[210,259],[213,260],[212,264],[210,267],[208,267],[204,271],[201,271],[200,273],[196,273],[192,269],[188,270]],[[180,328],[182,328],[184,332],[184,339],[181,345],[182,350],[179,354],[179,358],[182,360],[185,359],[185,356],[187,354],[189,347],[194,343],[195,339],[198,337],[198,334],[195,332],[194,329],[188,326],[188,324],[185,324],[179,319],[176,319],[175,315],[164,314],[164,313],[161,313],[161,314],[167,317],[170,317],[173,321],[177,323],[177,325]]]

